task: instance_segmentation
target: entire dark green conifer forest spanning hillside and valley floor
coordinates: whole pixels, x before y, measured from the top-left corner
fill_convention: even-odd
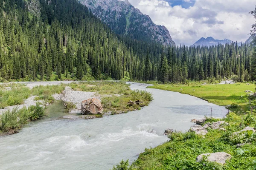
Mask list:
[[[76,0],[0,0],[0,81],[255,80],[253,46],[165,47],[114,34]]]

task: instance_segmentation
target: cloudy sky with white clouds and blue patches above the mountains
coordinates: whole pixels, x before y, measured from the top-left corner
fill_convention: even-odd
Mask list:
[[[178,44],[201,37],[245,41],[255,19],[256,0],[129,0],[157,25],[166,26]]]

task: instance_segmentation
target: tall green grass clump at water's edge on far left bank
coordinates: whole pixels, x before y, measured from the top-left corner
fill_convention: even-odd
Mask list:
[[[8,110],[0,115],[0,135],[14,134],[29,121],[40,119],[45,115],[44,108],[37,103],[36,106],[29,106],[18,109],[17,107]]]

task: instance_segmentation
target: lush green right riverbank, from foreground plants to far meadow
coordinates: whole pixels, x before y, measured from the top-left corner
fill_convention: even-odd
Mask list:
[[[255,108],[250,111],[249,100],[245,91],[255,91],[255,85],[247,83],[224,85],[154,85],[148,88],[175,91],[197,96],[217,105],[227,106],[235,113],[227,114],[225,119],[211,119],[211,125],[225,121],[221,129],[207,127],[207,134],[196,135],[195,132],[171,133],[169,141],[155,148],[145,149],[144,153],[133,162],[133,170],[163,169],[255,169],[256,168],[256,127]],[[204,126],[206,122],[202,124]],[[201,126],[195,125],[197,128]],[[247,130],[248,129],[248,130]],[[240,131],[243,130],[243,131]],[[196,161],[203,153],[224,152],[231,155],[225,164],[207,161]],[[225,161],[224,161],[225,162]],[[124,163],[124,162],[123,162]],[[119,164],[120,165],[120,164]],[[126,167],[129,167],[126,164]],[[115,167],[113,170],[116,170]]]

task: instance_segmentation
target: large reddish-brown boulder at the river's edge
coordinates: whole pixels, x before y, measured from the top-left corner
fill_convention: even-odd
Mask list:
[[[99,99],[92,98],[82,102],[81,114],[102,114],[103,108]]]

